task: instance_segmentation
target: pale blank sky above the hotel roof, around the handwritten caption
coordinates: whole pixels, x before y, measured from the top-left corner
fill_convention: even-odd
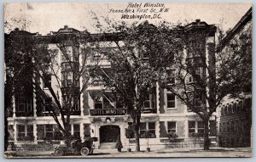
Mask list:
[[[64,25],[73,27],[79,31],[85,29],[97,32],[94,27],[91,12],[98,17],[106,17],[110,20],[122,20],[121,13],[111,13],[110,10],[122,10],[129,3],[7,3],[4,6],[4,22],[7,22],[5,32],[22,28],[26,20],[26,31],[39,32],[46,35],[50,31],[58,31]],[[139,4],[139,3],[137,3]],[[143,6],[144,3],[141,5]],[[177,22],[194,21],[200,19],[207,24],[221,25],[224,31],[232,28],[252,6],[251,3],[164,3],[168,12],[162,13],[161,19],[150,19],[149,23],[157,24],[162,20],[176,24]],[[152,14],[148,8],[147,13],[129,14]],[[142,8],[146,9],[146,8]],[[155,8],[160,9],[160,8]],[[146,19],[138,20],[144,21]],[[21,23],[20,23],[21,21]],[[125,20],[131,23],[135,20]],[[23,23],[22,23],[23,22]],[[23,26],[24,28],[24,26]]]

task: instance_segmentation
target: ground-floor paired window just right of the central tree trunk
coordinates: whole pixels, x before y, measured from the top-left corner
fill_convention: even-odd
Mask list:
[[[140,137],[144,138],[148,135],[148,138],[155,137],[155,124],[154,122],[141,123],[140,124]]]

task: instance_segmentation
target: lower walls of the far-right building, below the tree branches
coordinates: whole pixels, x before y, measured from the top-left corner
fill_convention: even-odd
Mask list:
[[[252,95],[226,99],[219,108],[218,116],[218,145],[220,147],[251,147]]]

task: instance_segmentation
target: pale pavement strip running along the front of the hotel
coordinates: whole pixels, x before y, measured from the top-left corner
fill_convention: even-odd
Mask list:
[[[117,149],[95,149],[94,154],[88,156],[61,156],[56,157],[51,152],[10,152],[5,153],[7,158],[168,158],[168,157],[251,157],[252,148],[218,148],[214,147],[210,150],[202,148],[163,148],[147,152],[127,152],[123,149],[118,152]]]

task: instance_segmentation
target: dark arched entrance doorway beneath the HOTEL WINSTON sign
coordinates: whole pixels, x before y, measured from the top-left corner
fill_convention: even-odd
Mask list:
[[[119,126],[101,126],[100,142],[116,142],[120,137]]]

